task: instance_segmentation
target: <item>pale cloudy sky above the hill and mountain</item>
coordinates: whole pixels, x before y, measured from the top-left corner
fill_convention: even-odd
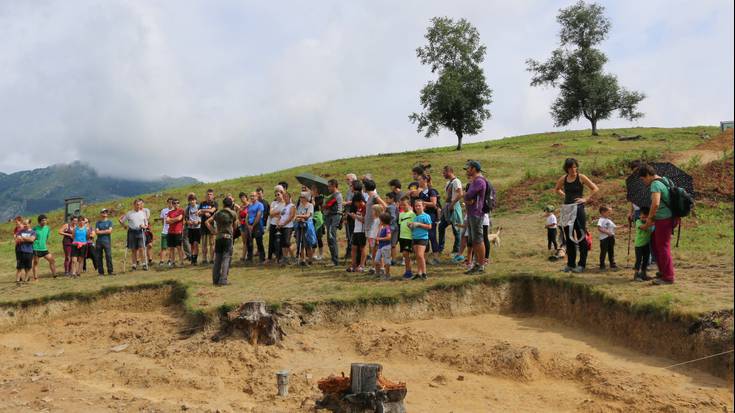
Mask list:
[[[456,145],[408,120],[432,74],[416,48],[434,16],[487,46],[492,118],[465,142],[555,128],[528,58],[558,45],[572,1],[0,0],[0,171],[81,160],[105,175],[204,181],[356,155]],[[733,118],[733,4],[601,2],[606,70],[647,95],[636,122]]]

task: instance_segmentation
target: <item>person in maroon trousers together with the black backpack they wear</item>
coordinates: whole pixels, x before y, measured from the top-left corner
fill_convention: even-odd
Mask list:
[[[657,175],[651,165],[641,165],[638,168],[638,176],[651,191],[651,209],[646,223],[640,229],[645,231],[655,226],[652,243],[660,278],[653,280],[653,284],[673,284],[674,260],[671,257],[671,235],[674,228],[679,225],[680,218],[689,214],[692,199],[670,179]]]

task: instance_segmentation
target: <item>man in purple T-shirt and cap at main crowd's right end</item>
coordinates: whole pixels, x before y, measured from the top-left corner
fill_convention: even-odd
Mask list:
[[[485,203],[485,191],[487,191],[487,181],[482,176],[482,167],[477,161],[467,161],[464,166],[467,171],[467,178],[470,181],[470,188],[464,194],[465,205],[467,205],[467,243],[472,248],[473,256],[476,264],[472,266],[465,274],[479,274],[485,272],[485,244],[482,235],[482,212]]]

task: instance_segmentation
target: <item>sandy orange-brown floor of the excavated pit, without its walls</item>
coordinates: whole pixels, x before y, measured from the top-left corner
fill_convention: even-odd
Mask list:
[[[182,335],[175,310],[80,313],[0,334],[0,411],[313,411],[316,381],[380,362],[410,412],[732,411],[732,390],[671,360],[539,317],[300,327],[286,341]],[[186,331],[184,331],[186,334]],[[113,348],[127,345],[126,348]],[[275,372],[291,372],[275,396]]]

